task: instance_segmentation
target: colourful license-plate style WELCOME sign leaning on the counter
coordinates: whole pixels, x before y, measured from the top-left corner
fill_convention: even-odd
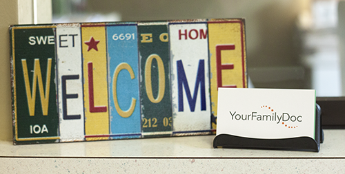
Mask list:
[[[215,131],[247,87],[243,19],[13,25],[14,144]]]

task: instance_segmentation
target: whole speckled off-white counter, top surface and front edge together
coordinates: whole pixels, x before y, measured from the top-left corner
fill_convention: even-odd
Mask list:
[[[345,130],[324,130],[319,153],[213,149],[215,135],[12,145],[0,142],[0,171],[22,173],[342,173]],[[0,172],[1,173],[1,172]]]

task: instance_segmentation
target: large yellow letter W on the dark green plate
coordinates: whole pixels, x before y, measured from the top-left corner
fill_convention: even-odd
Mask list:
[[[39,83],[39,96],[41,96],[41,105],[43,116],[48,115],[48,103],[49,103],[49,89],[50,89],[50,74],[52,68],[52,58],[48,58],[47,63],[47,76],[46,76],[46,94],[43,91],[43,81],[41,74],[41,66],[39,65],[39,58],[34,59],[34,76],[32,80],[32,92],[30,91],[30,80],[28,76],[28,67],[26,65],[26,59],[21,60],[23,65],[23,74],[26,88],[26,98],[28,98],[28,107],[30,116],[34,116],[34,105],[36,101],[36,86],[37,79]]]

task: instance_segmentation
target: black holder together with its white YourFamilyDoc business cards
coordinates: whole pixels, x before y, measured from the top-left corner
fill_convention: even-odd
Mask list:
[[[319,151],[315,98],[312,89],[219,88],[214,146]]]

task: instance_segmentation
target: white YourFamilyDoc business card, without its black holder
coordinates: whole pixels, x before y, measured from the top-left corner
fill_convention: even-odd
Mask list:
[[[217,135],[315,140],[315,90],[218,89]]]

